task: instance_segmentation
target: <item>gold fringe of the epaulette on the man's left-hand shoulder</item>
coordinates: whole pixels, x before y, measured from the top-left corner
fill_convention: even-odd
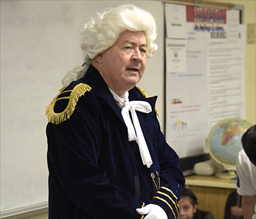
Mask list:
[[[81,96],[83,96],[84,93],[86,93],[86,91],[90,91],[92,89],[92,87],[88,86],[87,84],[77,84],[77,86],[74,87],[74,89],[72,89],[66,109],[63,110],[63,112],[56,113],[54,112],[54,105],[58,99],[58,96],[60,96],[61,91],[63,91],[66,87],[61,88],[60,93],[58,93],[58,95],[52,100],[52,102],[47,107],[45,107],[45,114],[47,116],[49,123],[58,125],[63,121],[67,121],[67,119],[69,119],[70,116],[73,114],[79,98],[81,98]]]

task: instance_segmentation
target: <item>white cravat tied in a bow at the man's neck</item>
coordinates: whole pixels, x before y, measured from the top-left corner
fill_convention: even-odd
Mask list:
[[[143,165],[147,165],[148,168],[150,168],[150,165],[152,165],[152,159],[150,156],[150,153],[148,151],[148,146],[145,141],[143,132],[141,130],[140,121],[138,119],[138,116],[135,112],[135,110],[149,113],[152,111],[152,108],[148,102],[145,101],[131,101],[129,102],[129,92],[127,91],[124,95],[118,96],[112,89],[109,88],[111,93],[113,94],[118,107],[122,109],[121,114],[124,118],[125,125],[128,129],[128,140],[136,140],[139,149],[140,149],[140,156],[141,160],[143,162]],[[132,121],[131,117],[129,115],[129,111],[132,115]],[[134,130],[135,128],[135,130]],[[136,132],[135,132],[136,131]],[[137,135],[136,135],[137,134]]]

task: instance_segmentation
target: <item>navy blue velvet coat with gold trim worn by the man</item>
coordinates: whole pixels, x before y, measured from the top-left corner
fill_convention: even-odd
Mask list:
[[[77,97],[74,89],[85,84],[90,89]],[[137,143],[128,141],[120,109],[93,66],[49,105],[47,116],[54,118],[47,125],[50,219],[136,219],[141,218],[136,208],[147,204],[161,206],[168,218],[177,217],[184,176],[179,157],[161,133],[156,97],[146,98],[134,87],[129,100],[146,101],[153,109],[137,112],[153,161],[150,169],[143,165]],[[72,101],[75,108],[60,119]]]

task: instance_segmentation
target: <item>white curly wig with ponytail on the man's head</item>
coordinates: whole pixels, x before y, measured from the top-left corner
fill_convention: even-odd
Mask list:
[[[147,39],[147,56],[152,57],[157,50],[156,22],[148,12],[134,4],[122,4],[116,8],[108,8],[97,17],[91,18],[81,33],[84,64],[67,72],[62,80],[66,86],[73,80],[84,76],[92,63],[92,59],[111,47],[120,33],[124,31],[143,31]]]

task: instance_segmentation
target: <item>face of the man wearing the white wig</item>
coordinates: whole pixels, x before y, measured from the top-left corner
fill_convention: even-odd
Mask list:
[[[134,87],[147,62],[147,40],[143,31],[124,31],[115,44],[99,54],[100,75],[119,96]]]

